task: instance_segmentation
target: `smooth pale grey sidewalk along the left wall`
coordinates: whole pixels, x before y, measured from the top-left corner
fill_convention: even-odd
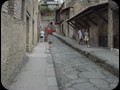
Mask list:
[[[9,90],[58,90],[49,44],[38,43]]]

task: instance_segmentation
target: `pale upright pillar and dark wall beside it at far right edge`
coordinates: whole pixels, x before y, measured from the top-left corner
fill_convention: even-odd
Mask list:
[[[119,49],[119,7],[109,0],[108,8],[108,47]]]

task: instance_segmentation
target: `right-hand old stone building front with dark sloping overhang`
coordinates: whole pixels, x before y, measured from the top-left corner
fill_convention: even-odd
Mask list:
[[[78,40],[78,30],[88,29],[91,47],[119,49],[118,10],[112,0],[65,0],[56,10],[55,22],[66,37]]]

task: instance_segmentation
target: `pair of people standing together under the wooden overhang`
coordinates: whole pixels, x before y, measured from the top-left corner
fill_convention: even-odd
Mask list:
[[[88,29],[82,29],[78,31],[79,34],[79,42],[78,44],[87,45],[89,47],[89,33]]]

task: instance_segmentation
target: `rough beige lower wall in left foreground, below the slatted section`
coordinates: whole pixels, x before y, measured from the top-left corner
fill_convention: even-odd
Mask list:
[[[26,53],[25,24],[1,12],[1,82],[7,88]]]

